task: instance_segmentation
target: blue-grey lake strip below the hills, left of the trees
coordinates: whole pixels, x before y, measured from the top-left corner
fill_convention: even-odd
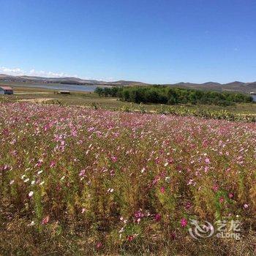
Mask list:
[[[78,86],[76,84],[42,84],[42,83],[26,84],[25,83],[22,85],[22,87],[54,89],[54,90],[61,90],[61,91],[94,91],[98,86]]]

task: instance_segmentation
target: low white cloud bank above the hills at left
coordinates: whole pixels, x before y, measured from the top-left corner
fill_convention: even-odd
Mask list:
[[[20,69],[19,67],[9,68],[9,67],[0,67],[0,73],[5,75],[31,75],[31,76],[42,76],[46,78],[63,78],[63,77],[77,77],[77,75],[69,75],[64,72],[52,72],[52,71],[37,71],[35,69],[31,69],[29,71]]]

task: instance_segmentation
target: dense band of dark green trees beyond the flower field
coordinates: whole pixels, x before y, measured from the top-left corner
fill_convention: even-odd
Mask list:
[[[170,86],[97,87],[99,96],[119,97],[123,101],[154,104],[208,104],[233,105],[235,102],[252,102],[252,97],[236,92],[181,89]]]

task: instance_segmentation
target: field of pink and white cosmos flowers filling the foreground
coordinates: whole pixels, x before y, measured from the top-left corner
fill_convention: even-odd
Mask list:
[[[28,103],[0,110],[3,255],[256,252],[255,123]],[[189,219],[224,218],[241,222],[240,241],[189,236]]]

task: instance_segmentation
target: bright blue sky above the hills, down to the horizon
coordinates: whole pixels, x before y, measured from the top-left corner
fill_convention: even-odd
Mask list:
[[[0,0],[0,73],[256,80],[256,1]]]

